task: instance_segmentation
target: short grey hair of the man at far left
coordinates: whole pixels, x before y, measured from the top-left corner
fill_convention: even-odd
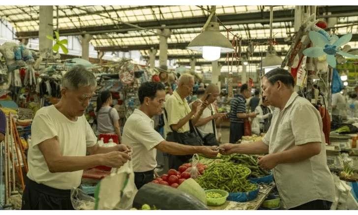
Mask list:
[[[63,75],[61,80],[61,89],[67,88],[69,90],[78,90],[80,87],[96,87],[97,82],[93,73],[88,71],[83,65],[75,65],[66,74]]]

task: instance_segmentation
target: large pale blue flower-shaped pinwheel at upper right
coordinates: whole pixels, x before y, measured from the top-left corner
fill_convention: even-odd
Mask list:
[[[307,57],[317,58],[323,56],[324,54],[327,54],[326,60],[328,62],[328,65],[332,66],[333,68],[337,64],[334,58],[335,54],[339,54],[348,58],[358,59],[358,56],[356,55],[351,55],[337,50],[339,47],[348,43],[352,39],[352,33],[347,33],[339,39],[338,36],[334,35],[331,38],[329,38],[330,40],[328,40],[328,38],[322,35],[321,33],[316,31],[310,31],[309,38],[316,45],[316,47],[309,47],[303,50],[303,54]],[[330,44],[330,41],[332,40],[336,40],[336,41],[333,42],[333,44]]]

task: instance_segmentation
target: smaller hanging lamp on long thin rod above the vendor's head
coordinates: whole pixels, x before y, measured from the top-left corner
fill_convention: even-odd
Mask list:
[[[262,60],[259,64],[259,67],[265,69],[273,69],[281,66],[282,59],[277,56],[275,48],[273,47],[273,38],[272,38],[272,20],[273,20],[273,6],[270,6],[270,38],[269,38],[269,47],[266,51],[266,58]]]

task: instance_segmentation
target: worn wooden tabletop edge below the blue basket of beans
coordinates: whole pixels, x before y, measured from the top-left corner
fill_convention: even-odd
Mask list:
[[[260,184],[260,191],[257,194],[256,199],[249,202],[232,202],[226,201],[223,205],[212,207],[211,210],[257,210],[261,204],[265,201],[266,197],[275,187],[275,183]]]

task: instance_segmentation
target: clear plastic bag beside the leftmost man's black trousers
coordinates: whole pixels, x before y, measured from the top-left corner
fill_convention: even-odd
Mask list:
[[[71,202],[75,210],[93,210],[96,199],[87,195],[80,188],[72,187]]]

